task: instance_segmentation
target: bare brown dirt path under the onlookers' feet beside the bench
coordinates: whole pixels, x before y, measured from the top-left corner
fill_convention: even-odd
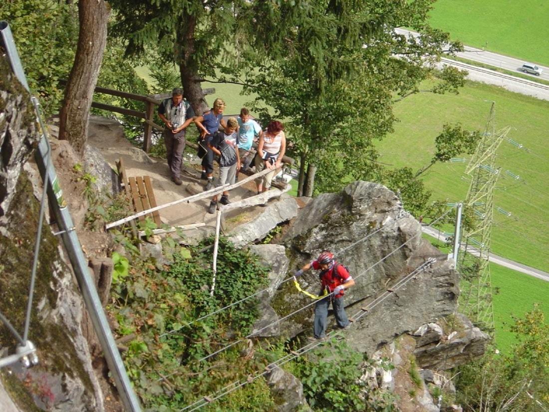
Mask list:
[[[150,158],[141,149],[128,142],[124,137],[121,125],[116,120],[91,116],[89,119],[88,143],[99,149],[113,169],[116,169],[116,160],[122,158],[128,176],[150,176],[158,205],[170,203],[203,191],[202,186],[205,185],[205,181],[199,179],[200,164],[196,156],[190,161],[184,157],[186,159],[184,160],[184,172],[181,174],[183,185],[177,186],[170,179],[166,161]],[[195,154],[191,148],[187,148],[185,153]],[[243,179],[243,176],[240,175],[240,178]],[[231,202],[236,202],[254,194],[255,183],[252,181],[231,191],[229,199]],[[215,214],[209,214],[206,211],[209,203],[210,199],[203,199],[190,204],[181,203],[161,209],[159,213],[163,222],[168,225],[205,222],[208,226],[215,226]],[[260,213],[257,209],[260,208],[255,207],[246,210],[245,214],[247,216],[243,219],[249,220],[253,215]]]

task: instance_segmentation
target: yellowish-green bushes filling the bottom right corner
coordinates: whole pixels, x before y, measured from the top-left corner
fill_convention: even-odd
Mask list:
[[[457,401],[464,410],[537,411],[537,402],[549,402],[549,325],[543,312],[534,308],[512,329],[519,343],[511,354],[489,348],[483,358],[460,368]]]

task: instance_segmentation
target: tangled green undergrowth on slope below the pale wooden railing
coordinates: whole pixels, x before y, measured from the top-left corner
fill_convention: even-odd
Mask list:
[[[181,409],[199,399],[199,394],[215,392],[267,364],[264,355],[243,359],[242,345],[208,361],[197,361],[249,333],[257,316],[257,300],[248,299],[197,319],[253,294],[267,282],[268,269],[255,255],[235,249],[222,238],[215,293],[210,296],[211,248],[205,248],[209,242],[181,247],[167,237],[163,251],[164,258],[172,259],[170,264],[143,260],[131,252],[126,265],[124,258],[113,256],[119,273],[111,292],[115,303],[109,310],[119,324],[117,333],[137,335],[128,343],[125,364],[147,408]],[[230,366],[234,363],[239,367]],[[272,402],[265,382],[256,380],[209,410],[259,412],[274,410]]]

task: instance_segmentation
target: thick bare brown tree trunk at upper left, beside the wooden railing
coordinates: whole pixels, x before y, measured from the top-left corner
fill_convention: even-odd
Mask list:
[[[80,0],[78,45],[59,113],[59,139],[82,155],[88,137],[89,109],[107,44],[110,8],[104,0]]]

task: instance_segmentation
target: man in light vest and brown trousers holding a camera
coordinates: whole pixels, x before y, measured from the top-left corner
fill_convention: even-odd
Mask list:
[[[171,179],[179,186],[183,183],[180,177],[185,149],[185,129],[194,121],[193,109],[189,102],[183,100],[182,88],[173,89],[172,97],[160,103],[158,116],[166,125],[163,136]]]

